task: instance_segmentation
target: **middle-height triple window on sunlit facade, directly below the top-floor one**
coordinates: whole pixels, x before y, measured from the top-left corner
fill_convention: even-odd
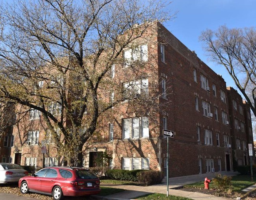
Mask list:
[[[141,94],[148,95],[148,79],[123,83],[123,89],[126,98],[137,98]]]

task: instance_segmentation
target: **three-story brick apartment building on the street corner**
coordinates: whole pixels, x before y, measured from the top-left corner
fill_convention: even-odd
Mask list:
[[[166,176],[163,129],[174,131],[169,139],[169,177],[230,171],[233,163],[249,164],[247,146],[253,138],[248,104],[159,22],[149,31],[154,37],[137,41],[139,56],[129,48],[123,52],[127,63],[115,65],[111,80],[122,80],[122,87],[138,95],[160,93],[158,104],[165,108],[157,113],[153,109],[132,112],[127,111],[127,102],[113,107],[112,117],[100,120],[99,135],[84,145],[83,165],[95,167],[98,155],[106,151],[114,169],[160,170]],[[127,75],[131,59],[147,63],[144,77]],[[115,91],[108,93],[110,100],[114,98]],[[0,160],[43,167],[41,142],[46,141],[47,127],[38,111],[30,111],[8,134],[2,137],[0,151],[8,148],[10,154],[0,152]],[[61,165],[56,147],[46,146],[45,166]]]

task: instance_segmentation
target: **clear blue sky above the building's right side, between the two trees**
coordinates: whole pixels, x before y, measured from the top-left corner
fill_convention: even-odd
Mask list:
[[[221,74],[227,86],[237,89],[226,69],[209,61],[198,37],[202,31],[217,30],[221,25],[228,28],[256,26],[256,0],[173,0],[167,9],[178,13],[176,19],[164,23],[164,26],[211,69]]]

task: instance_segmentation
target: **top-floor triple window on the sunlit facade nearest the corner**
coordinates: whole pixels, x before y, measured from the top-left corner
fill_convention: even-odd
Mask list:
[[[130,67],[133,60],[147,61],[148,60],[148,45],[143,44],[134,49],[128,49],[123,52],[124,67]]]

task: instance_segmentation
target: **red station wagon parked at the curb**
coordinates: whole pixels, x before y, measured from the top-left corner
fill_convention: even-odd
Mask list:
[[[100,180],[86,168],[46,167],[31,176],[20,178],[19,188],[22,194],[41,193],[60,200],[63,196],[98,194]]]

